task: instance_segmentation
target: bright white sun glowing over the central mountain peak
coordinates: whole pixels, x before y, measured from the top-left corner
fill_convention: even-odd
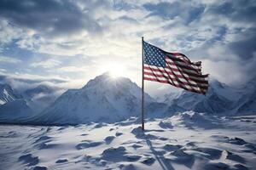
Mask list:
[[[125,66],[118,64],[110,64],[106,66],[105,71],[108,71],[112,78],[124,77],[127,73]]]

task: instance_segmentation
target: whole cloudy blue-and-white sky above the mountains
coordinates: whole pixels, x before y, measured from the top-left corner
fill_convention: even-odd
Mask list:
[[[256,74],[256,1],[0,0],[0,81],[81,88],[111,71],[141,85],[142,37],[230,85]],[[152,95],[175,91],[147,82]]]

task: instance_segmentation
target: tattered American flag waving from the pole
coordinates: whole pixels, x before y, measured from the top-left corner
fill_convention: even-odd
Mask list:
[[[191,62],[184,54],[168,53],[143,41],[143,79],[171,84],[190,92],[206,94],[208,75],[201,73],[201,61]]]

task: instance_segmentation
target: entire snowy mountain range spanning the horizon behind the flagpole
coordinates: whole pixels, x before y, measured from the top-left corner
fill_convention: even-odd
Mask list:
[[[221,116],[255,114],[256,88],[252,82],[241,88],[212,80],[206,96],[187,91],[166,94],[160,100],[145,97],[147,118],[196,111]],[[0,121],[40,124],[119,122],[140,116],[141,88],[129,78],[94,78],[80,89],[68,89],[57,98],[55,88],[39,85],[19,94],[8,84],[0,86]]]

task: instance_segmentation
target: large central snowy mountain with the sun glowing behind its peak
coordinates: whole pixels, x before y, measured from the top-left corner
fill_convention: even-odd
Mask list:
[[[141,88],[130,79],[113,78],[104,73],[90,80],[84,88],[67,90],[32,122],[77,124],[125,120],[139,116],[141,93]],[[145,105],[154,104],[153,108],[148,108],[148,113],[157,112],[156,107],[167,109],[167,105],[156,103],[148,94],[145,94],[145,101]]]

